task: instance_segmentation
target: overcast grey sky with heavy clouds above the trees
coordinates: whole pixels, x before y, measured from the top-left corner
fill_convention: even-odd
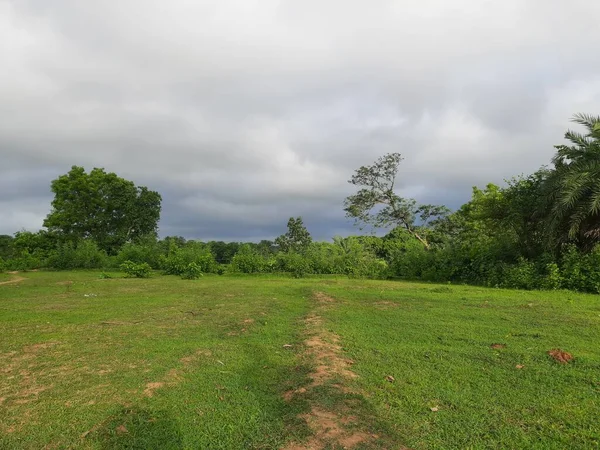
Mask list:
[[[103,167],[163,197],[160,235],[273,239],[344,217],[353,171],[457,208],[600,114],[591,0],[0,0],[0,234]]]

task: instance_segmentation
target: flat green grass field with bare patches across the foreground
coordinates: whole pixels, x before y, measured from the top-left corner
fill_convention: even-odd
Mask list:
[[[598,296],[18,276],[0,285],[0,448],[600,446]]]

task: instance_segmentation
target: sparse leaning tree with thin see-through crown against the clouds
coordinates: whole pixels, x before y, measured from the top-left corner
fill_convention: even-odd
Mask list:
[[[445,206],[418,205],[414,199],[404,198],[395,192],[400,153],[388,153],[370,166],[357,169],[349,180],[359,188],[346,198],[346,216],[358,223],[377,228],[401,227],[429,249],[427,226],[443,221],[449,210]]]

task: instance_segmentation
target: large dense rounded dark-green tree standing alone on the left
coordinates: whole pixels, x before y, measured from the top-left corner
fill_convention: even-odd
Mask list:
[[[66,240],[93,239],[109,253],[143,236],[155,235],[161,196],[144,186],[93,169],[73,166],[51,184],[54,200],[44,226]]]

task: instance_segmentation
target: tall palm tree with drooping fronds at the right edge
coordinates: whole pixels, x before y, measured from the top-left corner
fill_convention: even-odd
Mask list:
[[[576,114],[583,133],[569,130],[571,145],[557,145],[545,183],[548,225],[555,243],[590,249],[600,241],[600,117]]]

